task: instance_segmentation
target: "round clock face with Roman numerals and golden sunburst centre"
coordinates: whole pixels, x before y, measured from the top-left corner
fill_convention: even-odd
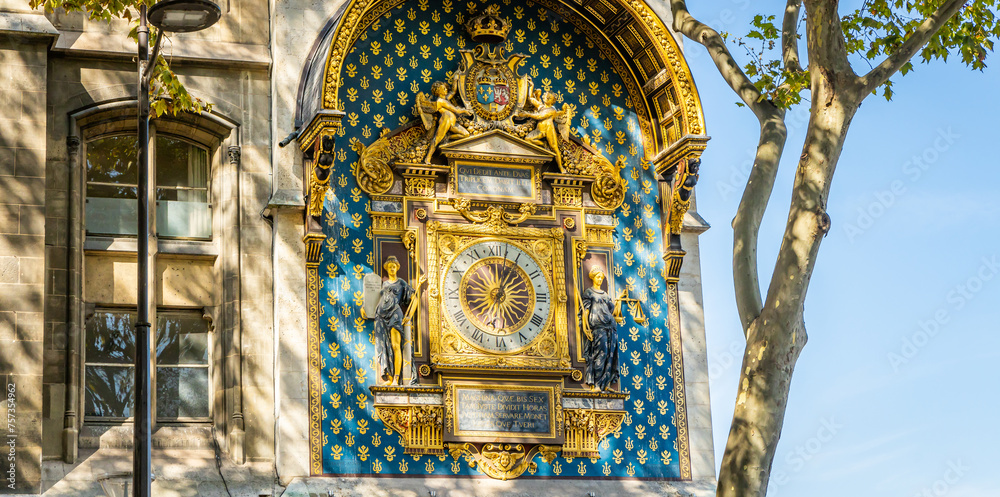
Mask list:
[[[485,351],[524,349],[551,315],[552,292],[538,261],[501,240],[476,242],[455,254],[441,288],[455,329]]]

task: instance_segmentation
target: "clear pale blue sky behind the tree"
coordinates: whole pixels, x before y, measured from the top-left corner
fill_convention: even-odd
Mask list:
[[[843,3],[842,12],[855,7]],[[768,2],[771,12],[762,13],[780,14],[782,6]],[[738,35],[761,4],[689,8]],[[718,470],[745,344],[730,222],[759,128],[704,49],[686,40],[685,52],[712,137],[696,195],[712,225],[700,249]],[[809,341],[795,367],[769,496],[997,495],[1000,56],[987,64],[983,72],[957,58],[917,64],[893,78],[891,102],[870,96],[854,118],[830,194],[832,228],[806,299]],[[807,120],[808,107],[789,113],[760,231],[764,291]]]

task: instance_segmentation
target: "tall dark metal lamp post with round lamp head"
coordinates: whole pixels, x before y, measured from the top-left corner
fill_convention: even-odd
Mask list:
[[[149,80],[151,68],[160,52],[164,32],[188,33],[215,24],[222,17],[219,6],[208,0],[164,0],[149,8],[139,7],[139,157],[138,166],[138,217],[139,225],[136,254],[138,258],[138,316],[135,324],[135,424],[133,428],[134,458],[132,461],[132,495],[150,497],[152,486],[152,350],[150,334],[149,281],[151,264],[149,255],[150,180],[149,171]],[[149,26],[156,26],[156,41],[152,56],[149,54]]]

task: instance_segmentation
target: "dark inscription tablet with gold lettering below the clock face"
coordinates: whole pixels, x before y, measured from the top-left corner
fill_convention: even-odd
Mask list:
[[[552,392],[457,387],[455,389],[461,435],[552,436]]]

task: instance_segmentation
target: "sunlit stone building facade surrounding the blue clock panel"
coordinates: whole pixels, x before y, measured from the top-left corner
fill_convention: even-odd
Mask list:
[[[314,322],[317,318],[310,310],[322,304],[317,299],[325,302],[326,297],[310,290],[308,278],[316,274],[322,257],[329,264],[330,258],[339,256],[338,250],[348,247],[338,249],[322,241],[314,244],[309,235],[325,238],[334,226],[341,226],[336,222],[327,226],[323,220],[336,214],[334,206],[339,202],[347,203],[350,194],[345,192],[351,188],[343,184],[354,181],[343,159],[334,162],[327,183],[317,173],[319,155],[324,152],[317,140],[330,136],[341,154],[351,150],[350,137],[345,138],[343,131],[350,127],[341,123],[350,120],[341,112],[349,97],[340,96],[343,102],[332,108],[324,99],[324,81],[332,74],[329,61],[335,52],[352,56],[349,47],[338,48],[345,26],[352,23],[367,23],[359,29],[371,29],[372,19],[377,23],[384,16],[382,29],[394,31],[391,21],[400,20],[402,39],[406,30],[420,30],[403,27],[407,11],[414,12],[410,17],[414,19],[418,12],[454,16],[463,9],[471,13],[485,6],[478,5],[483,2],[431,5],[436,3],[227,0],[220,2],[223,17],[216,26],[172,35],[165,43],[164,55],[187,89],[211,102],[213,108],[202,115],[164,115],[151,126],[158,233],[151,244],[159,357],[154,495],[713,492],[715,462],[698,259],[698,235],[708,225],[693,206],[686,213],[673,209],[683,219],[676,214],[676,219],[666,219],[675,190],[692,176],[691,171],[670,168],[696,158],[707,137],[703,122],[700,129],[694,126],[700,106],[690,108],[697,103],[697,94],[683,59],[671,63],[653,56],[657,50],[677,49],[677,41],[666,31],[669,23],[662,21],[668,18],[667,4],[658,0],[553,0],[545,5],[525,2],[525,7],[540,11],[543,18],[565,18],[567,23],[575,22],[572,17],[578,15],[580,22],[593,27],[586,31],[579,28],[584,24],[566,24],[577,26],[575,38],[567,38],[563,48],[567,67],[574,63],[586,67],[582,59],[571,60],[574,53],[583,53],[577,45],[607,50],[609,56],[617,51],[618,57],[624,57],[621,54],[635,47],[621,30],[631,29],[638,33],[640,45],[642,40],[662,44],[661,48],[640,47],[642,53],[653,54],[649,66],[601,69],[629,73],[621,77],[639,81],[633,91],[644,92],[641,98],[650,102],[664,85],[680,88],[682,81],[687,81],[687,91],[694,95],[695,104],[681,102],[675,114],[670,108],[648,105],[647,109],[657,111],[635,120],[649,127],[642,138],[645,151],[641,157],[633,153],[630,159],[638,164],[641,158],[647,166],[655,166],[652,170],[666,173],[657,178],[659,190],[655,184],[646,185],[646,193],[659,202],[647,205],[662,208],[664,216],[662,223],[653,223],[658,233],[650,232],[649,250],[669,255],[668,242],[674,240],[674,249],[682,246],[686,252],[673,251],[678,262],[683,260],[675,268],[679,275],[673,283],[677,320],[671,323],[675,329],[669,330],[674,338],[663,342],[677,347],[663,367],[672,367],[676,374],[667,376],[680,382],[670,392],[684,398],[678,403],[671,394],[671,409],[676,411],[672,411],[670,426],[684,432],[674,432],[672,457],[686,461],[686,469],[646,479],[626,476],[623,467],[613,471],[620,478],[581,472],[583,476],[558,482],[541,478],[503,482],[478,476],[441,478],[431,471],[423,476],[408,474],[408,478],[377,478],[369,470],[340,471],[332,459],[324,459],[327,465],[319,470],[312,465],[313,453],[329,449],[324,441],[329,434],[318,438],[311,431],[317,419],[313,404],[325,406],[322,402],[326,402],[316,398],[318,387],[311,375],[327,373],[311,359],[311,330],[314,325],[317,330],[327,328]],[[517,4],[496,3],[504,8]],[[548,4],[552,5],[546,10]],[[378,15],[373,17],[375,11]],[[2,451],[0,494],[104,495],[102,482],[111,486],[131,470],[128,363],[134,353],[129,330],[134,321],[137,265],[134,167],[129,162],[134,159],[129,151],[135,147],[137,76],[135,46],[125,36],[128,29],[125,21],[109,26],[80,13],[44,14],[31,11],[25,0],[0,0],[0,99],[5,104],[0,116],[0,383],[8,401],[9,435]],[[530,38],[533,33],[529,30],[521,36]],[[346,39],[357,44],[358,36],[367,35]],[[597,43],[595,49],[588,38],[605,39],[606,46]],[[397,44],[384,43],[389,50]],[[389,55],[364,54],[387,61]],[[393,73],[405,67],[402,64],[411,60],[410,55],[400,57]],[[425,66],[428,74],[450,70],[432,69],[434,58],[418,57],[414,52],[408,67],[417,75]],[[626,58],[634,62],[641,59],[641,53]],[[390,63],[381,69],[389,70]],[[585,69],[580,71],[582,75]],[[360,81],[366,76],[372,77],[364,73],[344,76],[340,87],[346,92],[351,78]],[[428,78],[400,76],[399,88],[389,100],[403,90],[412,102],[417,91],[411,92],[410,87],[428,92]],[[556,86],[556,91],[566,92]],[[584,105],[581,100],[580,107],[593,105],[598,113],[610,114],[613,106],[604,103],[598,109],[600,99],[594,95],[594,102]],[[626,97],[621,98],[625,101]],[[362,100],[369,105],[365,95]],[[372,98],[372,105],[376,100]],[[685,105],[688,108],[682,108]],[[398,102],[398,106],[406,104]],[[617,108],[624,109],[626,120],[632,115],[628,105]],[[406,112],[397,114],[404,116],[400,123],[406,121]],[[667,125],[671,116],[677,116],[673,131]],[[383,128],[381,122],[366,121],[357,126],[358,133],[365,124],[384,136],[399,123]],[[619,143],[628,147],[624,137]],[[662,168],[661,163],[665,164]],[[693,176],[696,180],[696,170]],[[338,181],[343,183],[340,188],[347,188],[345,192],[338,190]],[[367,215],[371,209],[367,194],[359,191],[354,196],[342,212]],[[318,214],[310,212],[315,206]],[[652,214],[647,217],[653,218]],[[673,231],[671,224],[676,225]],[[359,245],[370,244],[370,237],[365,241],[363,235],[357,236]],[[661,259],[663,266],[657,272],[666,271],[669,263],[669,258]],[[373,265],[368,264],[368,271]],[[329,271],[329,266],[322,267]],[[670,288],[663,280],[660,283],[663,290]],[[621,360],[626,360],[624,355]],[[635,364],[642,367],[638,361]],[[359,382],[365,386],[376,380]],[[678,418],[684,418],[683,426]],[[388,439],[390,431],[384,433]],[[678,448],[679,435],[683,443]],[[10,462],[8,448],[14,454]],[[357,449],[344,448],[348,453]],[[423,456],[418,461],[417,457],[411,461],[414,466],[438,460]],[[642,459],[645,463],[645,456]],[[581,460],[577,463],[582,467]],[[452,464],[451,457],[443,464]],[[677,461],[671,464],[680,468]]]

